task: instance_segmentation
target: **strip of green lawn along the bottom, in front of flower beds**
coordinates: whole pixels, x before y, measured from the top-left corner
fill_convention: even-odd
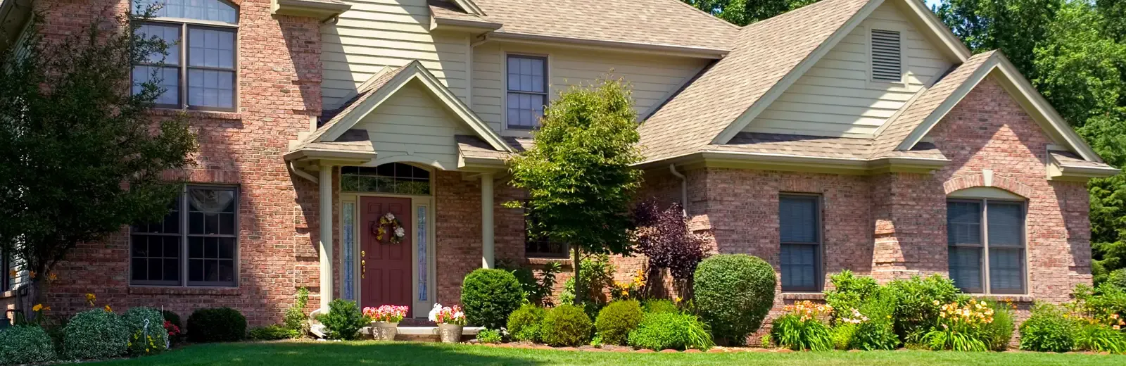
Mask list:
[[[189,346],[95,365],[1126,365],[1126,356],[1034,352],[619,354],[413,342],[242,342]]]

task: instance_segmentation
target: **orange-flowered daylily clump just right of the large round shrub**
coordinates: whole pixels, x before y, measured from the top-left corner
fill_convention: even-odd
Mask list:
[[[793,350],[831,350],[833,337],[822,322],[831,311],[830,306],[814,305],[808,301],[786,305],[786,314],[771,323],[770,339],[779,347]]]

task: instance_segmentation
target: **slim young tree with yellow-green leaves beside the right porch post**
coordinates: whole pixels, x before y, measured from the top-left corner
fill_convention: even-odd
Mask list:
[[[534,140],[509,162],[512,185],[527,190],[526,214],[536,217],[529,234],[570,244],[577,279],[581,252],[628,253],[629,204],[642,180],[631,168],[642,155],[628,86],[602,78],[560,93]],[[577,291],[577,301],[584,293]]]

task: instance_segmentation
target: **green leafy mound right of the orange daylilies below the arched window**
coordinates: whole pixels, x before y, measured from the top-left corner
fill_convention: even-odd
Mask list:
[[[1075,347],[1075,321],[1052,304],[1036,304],[1020,324],[1020,349],[1065,352]]]

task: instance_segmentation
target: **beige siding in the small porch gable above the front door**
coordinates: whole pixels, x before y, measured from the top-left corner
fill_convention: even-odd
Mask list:
[[[360,119],[356,128],[367,130],[379,162],[409,157],[410,161],[437,163],[441,169],[457,168],[454,135],[473,134],[418,80],[399,89]]]

